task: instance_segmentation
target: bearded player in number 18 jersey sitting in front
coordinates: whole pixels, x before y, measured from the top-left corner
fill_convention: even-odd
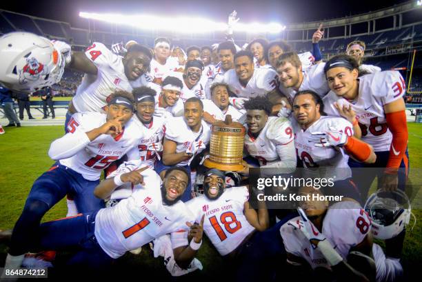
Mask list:
[[[226,188],[225,174],[221,170],[210,169],[204,177],[204,194],[186,205],[195,221],[201,223],[196,233],[202,235],[203,230],[225,259],[223,276],[233,277],[234,281],[270,280],[284,255],[279,233],[284,222],[267,229],[269,219],[264,201],[258,201],[255,210],[249,202],[248,188]],[[251,195],[256,197],[257,193],[260,192],[254,191]],[[285,221],[290,218],[292,216],[286,217]],[[188,232],[185,234],[188,236]],[[175,249],[174,254],[183,248],[187,246]],[[193,256],[194,253],[184,259],[189,261]],[[179,257],[177,263],[181,260]]]

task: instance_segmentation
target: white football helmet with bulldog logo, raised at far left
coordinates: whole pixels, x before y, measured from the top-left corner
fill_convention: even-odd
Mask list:
[[[20,92],[34,92],[60,81],[65,60],[50,40],[30,32],[0,37],[0,83]]]

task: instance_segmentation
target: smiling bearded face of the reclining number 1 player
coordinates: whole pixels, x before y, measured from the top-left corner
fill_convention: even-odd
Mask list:
[[[163,202],[167,205],[173,205],[181,199],[183,192],[188,187],[189,179],[181,170],[172,170],[165,174],[161,193],[163,194]]]

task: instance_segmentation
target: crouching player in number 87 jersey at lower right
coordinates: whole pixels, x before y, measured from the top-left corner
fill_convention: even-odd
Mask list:
[[[329,206],[313,187],[299,189],[299,216],[280,228],[294,279],[323,281],[396,281],[403,269],[372,243],[371,221],[352,199]],[[309,272],[309,267],[312,270]]]

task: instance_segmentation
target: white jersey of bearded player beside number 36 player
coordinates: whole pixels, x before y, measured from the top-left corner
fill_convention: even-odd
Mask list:
[[[296,93],[303,90],[312,90],[319,97],[323,98],[330,91],[327,79],[325,79],[324,66],[325,63],[317,63],[316,65],[309,66],[306,70],[302,69],[303,81],[299,90],[284,88],[283,83],[280,83],[280,92],[285,94],[285,97],[289,99],[290,103],[293,103]]]

